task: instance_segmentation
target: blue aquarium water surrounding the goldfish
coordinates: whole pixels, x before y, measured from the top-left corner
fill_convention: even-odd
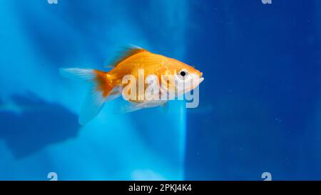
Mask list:
[[[0,1],[0,180],[321,179],[321,2]],[[203,71],[200,105],[78,124],[86,87],[135,44]]]

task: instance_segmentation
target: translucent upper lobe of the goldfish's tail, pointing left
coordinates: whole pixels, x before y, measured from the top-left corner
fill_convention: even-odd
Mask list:
[[[59,72],[61,76],[68,79],[92,80],[95,78],[93,69],[61,68]]]

